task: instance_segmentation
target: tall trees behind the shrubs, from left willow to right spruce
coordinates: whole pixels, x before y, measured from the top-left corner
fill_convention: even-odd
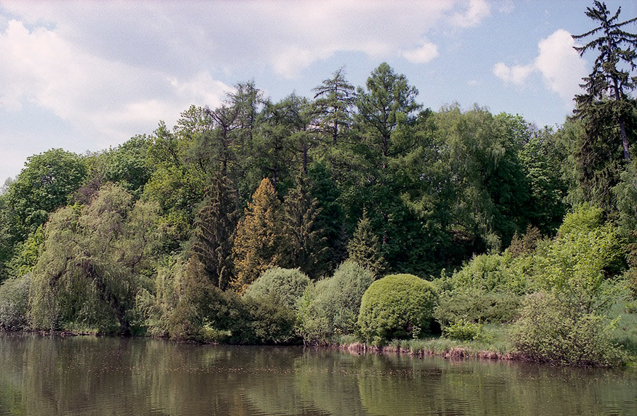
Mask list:
[[[604,276],[628,270],[637,286],[637,40],[621,29],[635,19],[597,1],[587,14],[603,35],[579,50],[601,52],[560,127],[423,108],[383,63],[356,88],[338,69],[311,98],[238,83],[218,108],[191,106],[116,148],[31,156],[0,195],[0,295],[15,298],[0,326],[290,342],[266,335],[267,317],[313,333],[290,316],[318,307],[310,293],[344,265],[365,282],[353,265],[372,281],[451,277],[524,238],[563,238],[585,204],[623,253]],[[308,279],[304,309],[241,300],[273,269]]]

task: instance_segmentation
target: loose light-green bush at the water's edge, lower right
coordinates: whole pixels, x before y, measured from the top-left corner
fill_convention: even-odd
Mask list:
[[[583,313],[550,294],[527,296],[513,330],[513,344],[536,362],[573,366],[615,366],[624,352],[614,345],[604,317]]]

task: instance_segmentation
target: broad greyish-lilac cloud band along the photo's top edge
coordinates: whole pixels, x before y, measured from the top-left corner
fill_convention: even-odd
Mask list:
[[[371,59],[408,54],[424,62],[432,47],[411,50],[437,28],[467,28],[489,15],[486,0],[2,2],[28,25],[46,24],[80,50],[159,71],[230,71],[252,65],[284,78],[337,52]],[[30,27],[30,26],[29,26]],[[108,28],[108,30],[99,30]],[[97,30],[96,30],[97,29]]]

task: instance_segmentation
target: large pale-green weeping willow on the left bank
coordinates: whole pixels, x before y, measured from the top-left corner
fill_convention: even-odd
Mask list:
[[[55,212],[33,269],[33,328],[131,333],[135,296],[155,264],[156,212],[114,185],[88,206]]]

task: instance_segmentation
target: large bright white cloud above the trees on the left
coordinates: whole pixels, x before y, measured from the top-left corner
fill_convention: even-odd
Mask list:
[[[190,104],[218,105],[231,88],[202,72],[187,79],[80,50],[55,30],[9,21],[0,33],[0,108],[50,110],[87,137],[122,141]],[[100,146],[102,143],[97,144]]]

